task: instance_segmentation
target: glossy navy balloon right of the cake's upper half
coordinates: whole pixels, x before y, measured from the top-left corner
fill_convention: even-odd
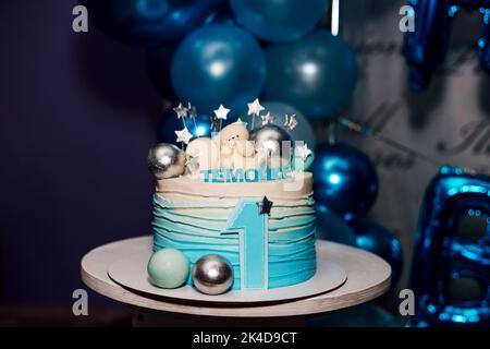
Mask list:
[[[378,176],[369,158],[346,145],[319,145],[311,167],[315,200],[345,220],[363,216],[375,203]]]

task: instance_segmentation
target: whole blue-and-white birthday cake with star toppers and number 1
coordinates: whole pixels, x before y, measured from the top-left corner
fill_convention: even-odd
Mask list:
[[[256,112],[250,105],[249,113]],[[218,256],[231,267],[226,288],[234,290],[286,287],[311,278],[315,209],[313,176],[303,170],[307,146],[295,146],[284,128],[270,122],[270,115],[250,131],[241,119],[221,129],[219,119],[228,113],[222,106],[211,118],[210,136],[195,137],[187,129],[191,110],[175,108],[183,119],[184,129],[175,132],[182,147],[159,144],[148,157],[157,177],[154,252],[176,250],[193,272],[203,257]],[[290,128],[291,117],[285,123],[290,120]],[[188,273],[185,282],[196,285],[195,277]]]

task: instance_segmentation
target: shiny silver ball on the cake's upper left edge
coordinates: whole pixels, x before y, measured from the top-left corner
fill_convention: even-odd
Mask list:
[[[173,144],[157,144],[149,151],[147,161],[158,179],[179,177],[185,171],[185,154]]]

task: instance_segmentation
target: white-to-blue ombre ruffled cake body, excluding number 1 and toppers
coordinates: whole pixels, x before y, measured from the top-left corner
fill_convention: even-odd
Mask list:
[[[242,198],[273,202],[268,216],[267,287],[296,285],[316,273],[313,176],[301,181],[203,182],[186,176],[158,180],[154,196],[154,250],[177,249],[191,266],[201,256],[220,254],[233,265],[233,289],[240,289],[238,234],[222,233]],[[299,183],[299,184],[298,184]],[[248,270],[254,273],[254,270]],[[191,284],[192,280],[188,280]]]

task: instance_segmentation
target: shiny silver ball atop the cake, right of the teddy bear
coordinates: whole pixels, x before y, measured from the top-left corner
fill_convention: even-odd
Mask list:
[[[250,141],[255,142],[258,152],[265,151],[268,156],[280,156],[281,165],[289,165],[293,153],[291,135],[277,124],[265,124],[250,132]],[[282,142],[290,142],[290,151],[283,152]],[[269,164],[270,166],[270,164]]]

